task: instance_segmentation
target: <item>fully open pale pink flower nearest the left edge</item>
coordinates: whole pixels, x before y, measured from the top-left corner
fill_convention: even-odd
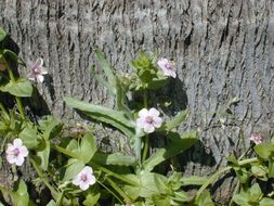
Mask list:
[[[17,166],[22,166],[25,157],[28,155],[28,150],[21,139],[13,140],[13,144],[9,143],[8,149],[5,151],[6,160],[10,164],[15,164]]]

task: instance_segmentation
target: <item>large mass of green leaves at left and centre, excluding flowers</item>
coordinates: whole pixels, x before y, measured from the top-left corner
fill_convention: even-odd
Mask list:
[[[1,46],[5,38],[8,36],[1,29]],[[71,98],[65,98],[65,102],[92,119],[110,125],[123,133],[131,142],[134,156],[102,152],[96,145],[93,131],[88,128],[83,132],[65,136],[66,126],[52,116],[41,118],[38,124],[31,123],[25,116],[21,99],[30,98],[34,86],[28,79],[14,76],[13,63],[16,63],[15,66],[25,64],[15,52],[4,47],[0,49],[3,66],[0,72],[0,91],[14,96],[18,112],[16,108],[5,108],[1,102],[0,132],[3,142],[14,139],[23,141],[29,151],[28,159],[38,175],[38,179],[32,183],[42,183],[51,192],[49,206],[99,205],[105,202],[109,203],[108,205],[182,205],[191,202],[193,196],[187,195],[182,188],[192,184],[191,182],[200,185],[203,178],[187,179],[175,171],[166,177],[153,171],[157,165],[182,153],[197,141],[195,131],[183,134],[173,131],[185,119],[187,111],[182,111],[173,120],[167,121],[158,129],[157,132],[167,138],[169,143],[155,154],[147,155],[143,151],[147,144],[144,139],[148,138],[148,134],[136,127],[138,111],[129,108],[127,102],[128,92],[146,93],[146,90],[160,88],[168,80],[155,66],[155,56],[140,53],[139,59],[132,61],[135,74],[128,78],[115,75],[102,52],[95,51],[95,54],[106,78],[100,75],[95,77],[116,99],[116,110]],[[147,100],[147,96],[145,99]],[[87,191],[81,191],[71,180],[84,166],[93,168],[96,183]],[[18,180],[13,191],[3,186],[0,186],[0,190],[10,195],[13,205],[35,205],[23,180]]]

